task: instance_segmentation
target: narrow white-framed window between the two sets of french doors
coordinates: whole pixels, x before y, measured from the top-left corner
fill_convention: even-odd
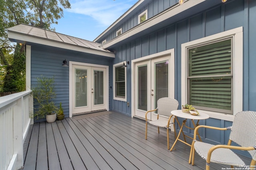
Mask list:
[[[126,102],[126,67],[122,63],[114,64],[114,100]]]

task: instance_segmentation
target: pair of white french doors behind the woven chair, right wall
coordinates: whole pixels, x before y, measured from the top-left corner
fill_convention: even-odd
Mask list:
[[[170,55],[135,63],[135,116],[145,118],[157,100],[170,96]],[[154,113],[148,119],[154,119]]]

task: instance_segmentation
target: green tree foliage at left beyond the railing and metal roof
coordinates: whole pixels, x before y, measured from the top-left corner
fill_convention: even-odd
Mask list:
[[[33,23],[36,27],[55,30],[50,26],[58,24],[57,20],[63,17],[61,6],[71,8],[68,0],[0,0],[0,91],[26,90],[25,45],[19,47],[10,42],[7,29]]]

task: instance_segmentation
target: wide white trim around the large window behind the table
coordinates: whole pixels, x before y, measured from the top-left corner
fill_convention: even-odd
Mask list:
[[[230,29],[181,45],[181,105],[187,103],[187,49],[195,45],[209,43],[214,40],[233,37],[233,114],[203,111],[215,119],[233,121],[234,115],[243,109],[243,27]]]

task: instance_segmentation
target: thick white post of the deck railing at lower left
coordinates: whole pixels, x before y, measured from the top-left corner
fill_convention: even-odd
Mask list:
[[[23,107],[22,97],[17,100],[17,104],[13,107],[13,152],[17,154],[15,169],[20,169],[23,166],[23,129],[21,128]]]

